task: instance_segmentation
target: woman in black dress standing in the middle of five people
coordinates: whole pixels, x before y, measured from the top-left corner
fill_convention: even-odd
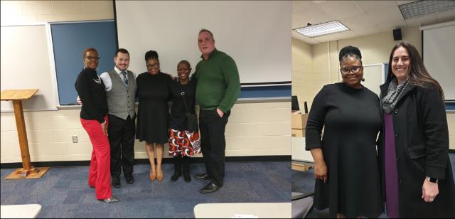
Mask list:
[[[146,141],[145,147],[150,161],[150,181],[155,178],[163,181],[164,144],[168,141],[168,99],[171,77],[161,73],[158,53],[150,50],[145,54],[147,71],[137,79],[137,95],[139,107],[137,110],[136,139]],[[156,154],[156,165],[155,165]]]

